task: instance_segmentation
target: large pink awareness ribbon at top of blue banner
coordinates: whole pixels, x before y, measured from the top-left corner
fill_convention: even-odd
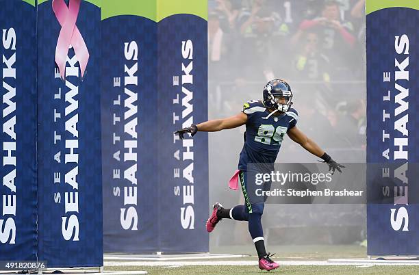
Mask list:
[[[55,48],[55,63],[57,63],[62,79],[65,79],[66,60],[68,48],[73,46],[75,55],[80,64],[81,77],[86,70],[89,51],[86,43],[75,25],[79,15],[81,0],[69,0],[68,7],[64,0],[53,0],[52,7],[55,17],[61,25],[58,36],[57,47]]]

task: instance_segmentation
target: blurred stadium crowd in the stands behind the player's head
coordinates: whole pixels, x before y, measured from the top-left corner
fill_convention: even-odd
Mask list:
[[[333,129],[328,146],[364,150],[364,6],[365,0],[210,0],[210,116],[231,114],[279,77],[293,88],[300,116],[317,116],[305,124],[307,135],[316,140],[324,136],[318,129]]]

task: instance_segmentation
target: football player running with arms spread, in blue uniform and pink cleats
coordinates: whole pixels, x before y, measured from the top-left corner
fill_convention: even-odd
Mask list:
[[[236,189],[240,182],[245,203],[227,209],[217,202],[213,207],[212,215],[207,220],[206,227],[208,232],[212,232],[221,219],[248,221],[249,233],[257,250],[261,270],[274,270],[279,265],[270,259],[273,254],[267,253],[265,250],[261,218],[266,198],[257,200],[255,196],[249,194],[249,190],[255,189],[255,181],[249,180],[248,182],[247,180],[249,170],[256,169],[257,172],[270,173],[274,169],[273,163],[277,159],[285,133],[309,153],[323,159],[329,165],[329,171],[332,170],[332,173],[335,170],[342,172],[341,168],[344,167],[334,161],[325,153],[325,150],[322,150],[296,127],[299,115],[291,105],[292,92],[288,83],[282,79],[273,79],[264,86],[263,101],[244,103],[242,112],[236,116],[210,120],[175,131],[183,139],[183,135],[186,133],[194,136],[197,131],[214,132],[246,125],[245,141],[240,153],[238,170],[229,184],[230,187]],[[250,168],[248,163],[258,163],[261,166]],[[249,179],[251,178],[249,177]],[[265,183],[263,188],[269,189],[270,184]]]

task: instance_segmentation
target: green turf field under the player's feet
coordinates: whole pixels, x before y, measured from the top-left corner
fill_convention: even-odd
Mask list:
[[[333,246],[268,246],[268,251],[275,252],[275,261],[326,261],[327,259],[366,259],[366,248],[359,245]],[[218,246],[211,248],[212,253],[249,254],[248,257],[187,260],[188,262],[252,261],[254,265],[182,265],[175,267],[174,262],[182,264],[185,261],[171,261],[160,263],[162,266],[131,265],[106,266],[105,271],[145,270],[149,274],[262,274],[257,267],[252,246]],[[373,258],[374,259],[374,258]],[[266,271],[263,273],[266,274]],[[283,265],[270,274],[419,274],[419,265]]]

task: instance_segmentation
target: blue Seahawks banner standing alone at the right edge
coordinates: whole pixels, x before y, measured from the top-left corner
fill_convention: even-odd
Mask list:
[[[418,9],[418,1],[366,1],[367,162],[377,163],[368,166],[368,197],[391,200],[369,200],[369,255],[419,254]]]

